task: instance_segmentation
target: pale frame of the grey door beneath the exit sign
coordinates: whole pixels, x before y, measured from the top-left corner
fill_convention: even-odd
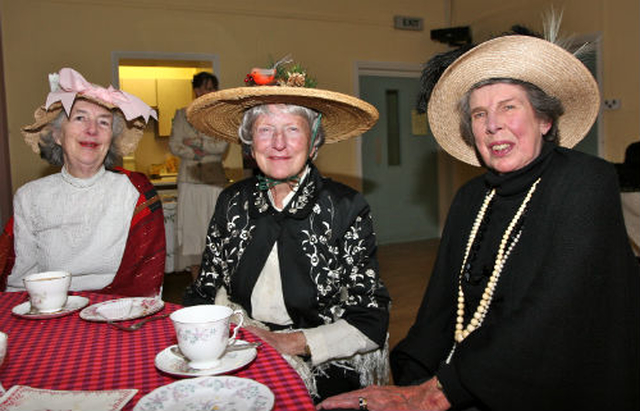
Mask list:
[[[422,65],[417,63],[384,62],[384,61],[356,61],[353,70],[354,95],[360,97],[360,77],[409,77],[419,78]],[[364,178],[362,170],[362,136],[356,139],[356,169],[360,180]]]

